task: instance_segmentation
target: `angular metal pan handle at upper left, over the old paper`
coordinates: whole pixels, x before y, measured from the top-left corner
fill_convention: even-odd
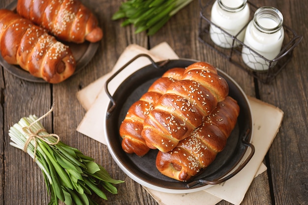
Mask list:
[[[131,60],[129,60],[125,65],[123,65],[123,67],[121,67],[118,71],[116,71],[111,77],[109,77],[106,82],[105,82],[105,91],[106,91],[106,94],[107,96],[109,97],[111,103],[112,103],[112,106],[107,110],[107,117],[110,116],[110,113],[114,110],[114,108],[116,107],[116,102],[115,100],[113,99],[113,96],[110,94],[109,90],[108,90],[108,84],[109,82],[114,78],[116,77],[121,71],[123,71],[129,64],[131,64],[133,61],[135,61],[137,58],[139,57],[147,57],[149,58],[149,60],[151,61],[152,65],[154,66],[154,68],[158,69],[162,66],[164,66],[167,62],[169,62],[169,60],[164,60],[162,62],[158,62],[158,63],[155,63],[154,60],[148,55],[148,54],[144,54],[144,53],[141,53],[141,54],[138,54],[136,55],[134,58],[132,58]]]

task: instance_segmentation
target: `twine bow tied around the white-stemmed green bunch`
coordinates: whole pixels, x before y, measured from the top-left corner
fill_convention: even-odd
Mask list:
[[[60,137],[59,135],[57,134],[40,134],[41,132],[47,132],[45,128],[42,128],[42,129],[39,129],[37,131],[33,131],[31,129],[31,127],[37,123],[38,121],[40,121],[41,119],[45,118],[46,116],[48,116],[51,112],[53,111],[53,107],[51,107],[51,109],[45,113],[43,116],[41,116],[40,118],[38,118],[37,120],[35,120],[34,122],[32,122],[30,124],[29,127],[24,127],[23,130],[24,132],[29,136],[26,143],[25,143],[25,146],[24,146],[24,152],[27,152],[27,149],[28,149],[28,146],[29,146],[29,143],[34,140],[34,158],[33,158],[33,161],[35,161],[35,154],[36,154],[36,147],[37,147],[37,142],[36,142],[36,138],[46,142],[47,144],[49,145],[56,145],[60,142]],[[56,142],[50,142],[48,140],[49,137],[56,137],[57,138],[57,141]]]

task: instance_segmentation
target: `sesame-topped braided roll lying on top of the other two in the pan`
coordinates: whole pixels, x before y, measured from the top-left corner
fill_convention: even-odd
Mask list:
[[[193,63],[181,80],[172,83],[146,117],[142,137],[151,149],[168,152],[185,139],[229,93],[214,66]]]

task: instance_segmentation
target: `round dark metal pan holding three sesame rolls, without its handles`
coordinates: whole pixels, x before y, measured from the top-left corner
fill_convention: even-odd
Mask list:
[[[107,146],[112,157],[130,178],[146,187],[158,191],[188,193],[210,187],[211,185],[209,183],[199,182],[211,182],[224,178],[240,166],[240,161],[243,160],[244,156],[248,153],[247,145],[243,140],[248,143],[251,140],[252,118],[250,105],[245,93],[239,85],[219,69],[219,75],[224,77],[228,82],[230,90],[229,96],[238,102],[241,110],[237,125],[228,138],[225,149],[217,154],[215,161],[209,167],[204,169],[190,181],[181,182],[163,176],[156,169],[155,158],[157,150],[151,150],[143,157],[139,157],[135,154],[126,154],[122,150],[122,138],[119,135],[119,128],[130,105],[139,100],[140,97],[147,92],[154,80],[161,77],[167,69],[173,67],[185,68],[194,62],[196,61],[188,59],[170,60],[159,68],[155,68],[153,64],[151,64],[138,70],[127,77],[122,83],[120,82],[121,84],[112,96],[112,99],[115,101],[115,107],[111,112],[107,112],[106,124],[104,126],[106,126]],[[110,109],[112,105],[113,103],[110,103],[107,110]],[[250,130],[248,134],[247,130]],[[187,184],[194,185],[187,186]]]

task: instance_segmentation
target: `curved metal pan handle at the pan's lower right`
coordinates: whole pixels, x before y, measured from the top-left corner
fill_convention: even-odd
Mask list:
[[[250,129],[248,128],[245,132],[245,137],[242,138],[242,142],[243,144],[246,146],[246,147],[250,147],[250,154],[248,155],[248,157],[245,159],[245,161],[234,171],[232,172],[230,175],[222,178],[222,179],[218,179],[218,180],[213,180],[213,181],[209,181],[209,180],[206,180],[206,179],[198,179],[198,180],[194,180],[194,181],[191,181],[189,183],[186,184],[186,187],[187,188],[191,188],[197,184],[211,184],[211,185],[214,185],[214,184],[219,184],[219,183],[222,183],[228,179],[231,179],[232,177],[234,177],[236,174],[238,174],[245,166],[246,164],[250,161],[250,159],[252,158],[253,154],[254,154],[254,146],[247,142],[246,141],[246,137],[248,135],[248,133],[250,132]]]

